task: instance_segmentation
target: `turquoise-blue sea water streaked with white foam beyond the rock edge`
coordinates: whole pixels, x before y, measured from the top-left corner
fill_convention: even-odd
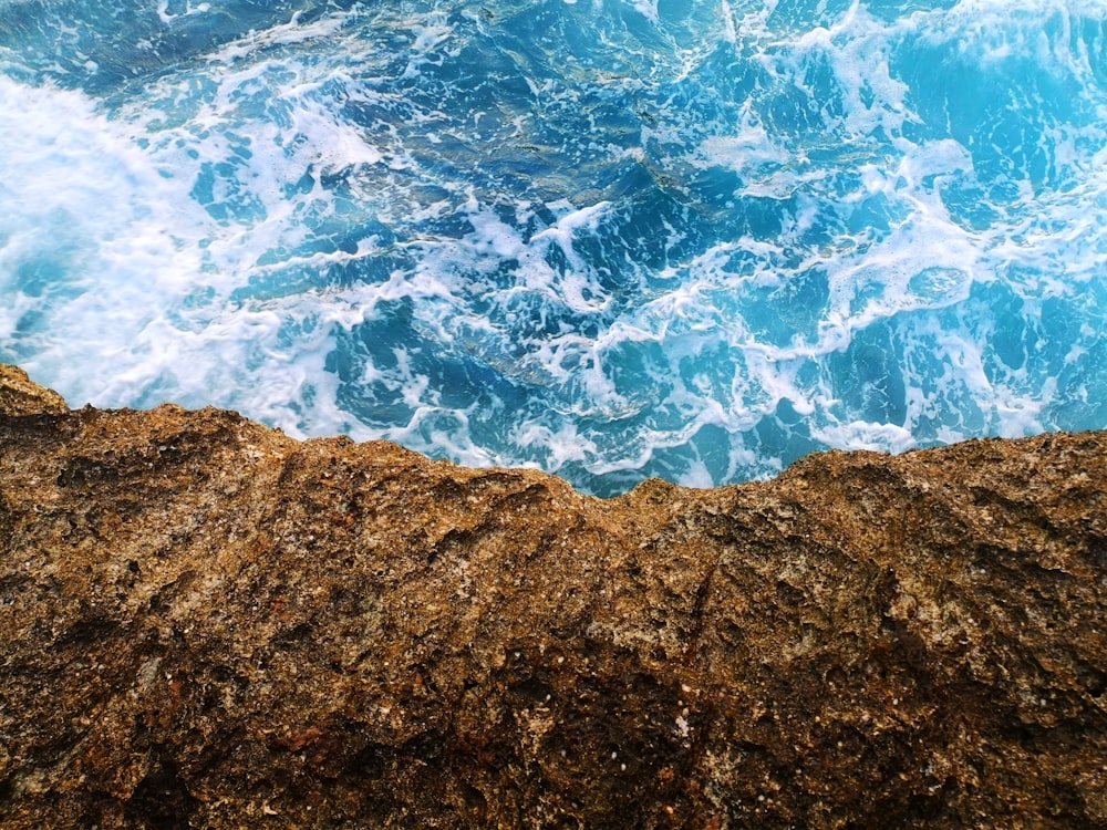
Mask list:
[[[0,361],[599,495],[1107,427],[1107,2],[0,0]]]

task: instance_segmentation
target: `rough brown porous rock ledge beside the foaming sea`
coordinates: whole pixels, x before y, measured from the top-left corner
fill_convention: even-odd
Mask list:
[[[600,500],[0,369],[4,828],[1107,826],[1107,434]]]

